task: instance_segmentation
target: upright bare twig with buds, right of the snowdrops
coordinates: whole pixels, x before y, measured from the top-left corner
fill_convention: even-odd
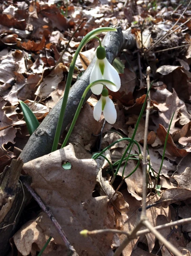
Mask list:
[[[147,67],[146,69],[147,73],[147,90],[150,88],[150,73],[151,68]],[[143,189],[142,189],[142,212],[141,212],[141,219],[144,219],[146,216],[146,168],[148,161],[146,159],[146,147],[147,147],[147,137],[148,137],[148,128],[149,128],[149,114],[150,114],[150,107],[151,107],[151,99],[150,99],[150,92],[148,95],[147,100],[147,108],[146,108],[146,119],[145,119],[145,128],[144,128],[144,144],[143,144]]]

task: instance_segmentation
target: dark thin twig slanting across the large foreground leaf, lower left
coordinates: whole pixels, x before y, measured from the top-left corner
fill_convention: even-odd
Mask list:
[[[48,207],[45,206],[45,204],[42,202],[41,198],[36,194],[36,192],[34,191],[34,189],[29,185],[29,183],[23,179],[23,184],[25,185],[25,187],[28,189],[28,191],[31,193],[31,195],[34,197],[34,199],[37,201],[37,203],[40,205],[41,209],[48,215],[48,217],[51,219],[52,223],[54,224],[56,230],[58,231],[60,237],[62,238],[62,240],[64,241],[66,247],[71,251],[71,255],[72,256],[78,256],[78,254],[76,253],[74,247],[70,244],[70,242],[68,241],[66,234],[64,233],[62,227],[60,226],[60,224],[56,221],[56,219],[54,218],[54,216],[52,215],[52,212],[50,211],[50,209]]]

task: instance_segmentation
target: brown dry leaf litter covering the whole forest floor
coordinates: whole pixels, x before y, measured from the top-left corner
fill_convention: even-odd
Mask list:
[[[93,107],[99,100],[91,96],[84,104],[69,145],[62,150],[24,164],[23,174],[32,177],[32,187],[66,232],[81,255],[113,255],[125,235],[83,238],[79,231],[116,228],[131,231],[139,220],[142,199],[142,165],[129,176],[114,196],[109,199],[122,179],[124,164],[111,184],[112,173],[104,159],[91,159],[109,144],[123,137],[131,138],[145,99],[146,67],[151,67],[151,106],[149,135],[147,137],[150,167],[146,215],[153,226],[190,216],[190,152],[191,152],[191,33],[188,2],[163,1],[9,1],[0,11],[0,166],[3,171],[17,158],[29,139],[22,119],[19,100],[24,101],[39,122],[63,96],[69,66],[77,46],[92,29],[100,26],[121,26],[135,37],[135,47],[124,49],[113,66],[120,73],[121,88],[109,91],[115,102],[117,121],[105,124],[104,117],[97,122]],[[71,34],[75,33],[62,57]],[[178,18],[179,22],[172,28]],[[186,23],[185,23],[186,22]],[[171,29],[172,28],[172,29]],[[176,29],[176,30],[175,30]],[[175,31],[173,31],[175,30]],[[172,32],[173,31],[173,32]],[[168,36],[166,35],[168,33]],[[161,40],[161,37],[163,39]],[[100,36],[103,39],[103,36]],[[72,84],[79,79],[91,62],[96,40],[83,48],[76,62]],[[155,176],[160,169],[167,130],[172,118],[163,166],[160,172],[160,197],[153,194]],[[139,124],[135,140],[141,152],[145,115]],[[63,134],[65,136],[68,128]],[[120,141],[110,147],[105,156],[111,165],[119,160],[127,146]],[[134,145],[131,154],[138,159]],[[137,160],[131,159],[124,176],[133,171]],[[102,168],[101,168],[102,167]],[[116,170],[114,166],[114,171]],[[108,171],[109,170],[109,171]],[[1,202],[0,202],[1,203]],[[23,226],[12,234],[15,255],[36,255],[49,236],[51,242],[43,255],[67,255],[68,251],[48,217],[36,210],[30,201],[23,212]],[[30,207],[29,207],[30,208]],[[39,213],[40,212],[40,213]],[[160,230],[183,255],[190,255],[190,224]],[[172,234],[171,234],[172,232]],[[11,238],[11,237],[10,237]],[[24,242],[23,242],[24,241]],[[132,240],[123,250],[124,256],[156,255],[162,244],[152,233]],[[163,246],[161,255],[170,255]]]

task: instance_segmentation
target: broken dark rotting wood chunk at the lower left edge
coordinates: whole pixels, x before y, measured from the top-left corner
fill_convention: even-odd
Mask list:
[[[23,162],[20,158],[13,159],[6,166],[0,178],[0,255],[7,255],[10,247],[9,239],[15,233],[19,216],[25,205],[23,188],[19,176]]]

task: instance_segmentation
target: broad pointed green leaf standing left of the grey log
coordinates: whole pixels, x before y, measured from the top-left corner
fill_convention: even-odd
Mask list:
[[[22,113],[24,116],[24,120],[27,124],[27,128],[29,131],[29,134],[32,135],[32,133],[36,130],[36,128],[39,126],[39,122],[32,112],[32,110],[21,100],[19,100],[19,103],[21,105]]]

